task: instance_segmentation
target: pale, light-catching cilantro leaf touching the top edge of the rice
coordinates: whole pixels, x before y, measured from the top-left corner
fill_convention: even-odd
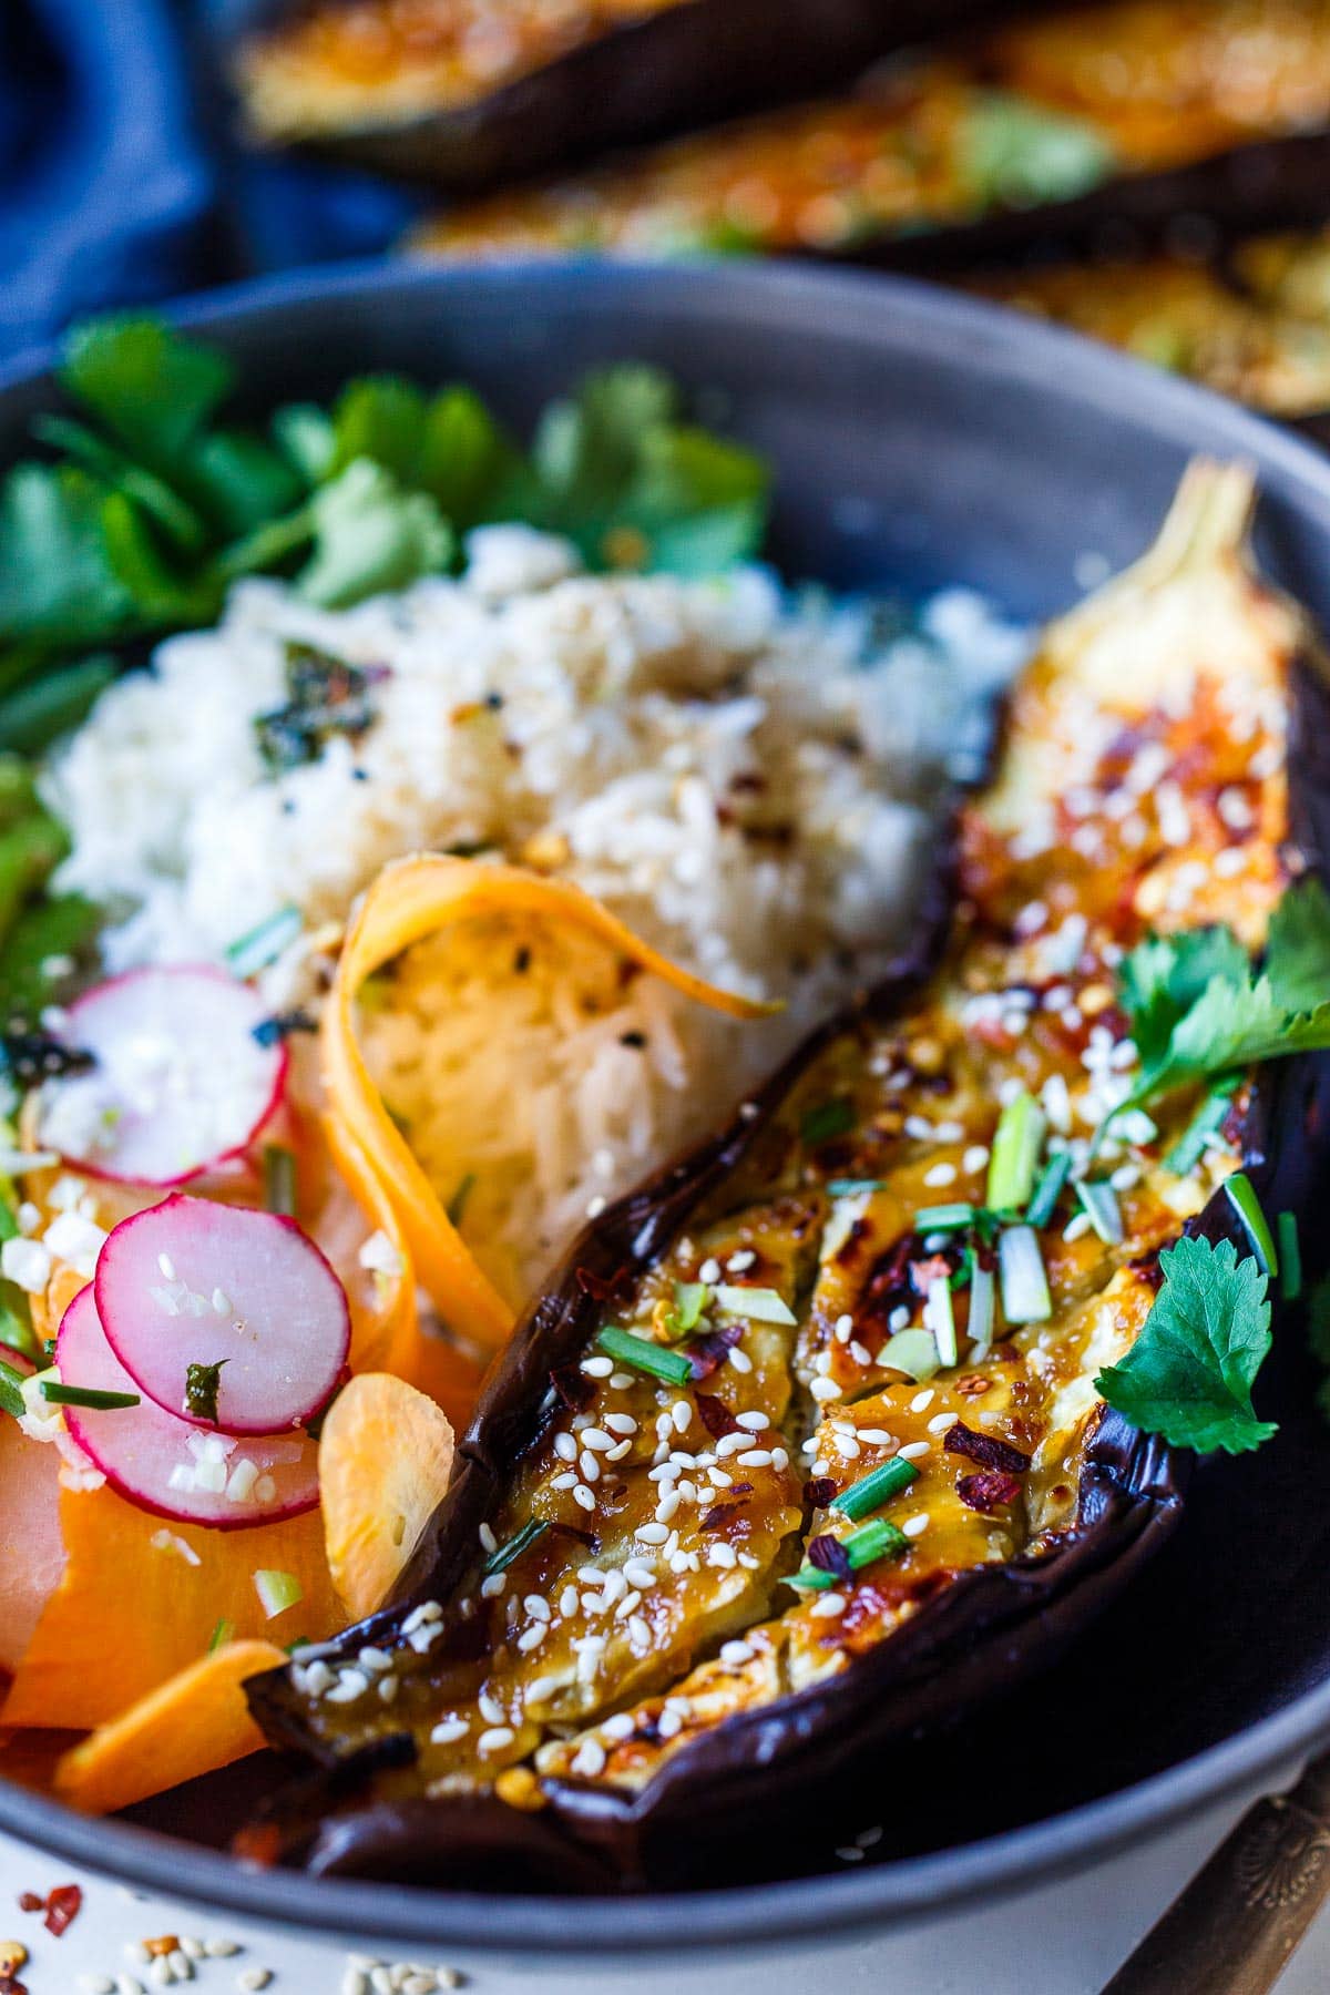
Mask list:
[[[429,493],[407,493],[381,465],[359,457],[309,501],[315,551],[297,587],[337,608],[385,589],[439,575],[453,535]]]

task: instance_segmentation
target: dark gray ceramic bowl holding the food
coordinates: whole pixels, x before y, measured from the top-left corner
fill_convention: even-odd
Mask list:
[[[1262,559],[1330,624],[1324,459],[1073,335],[923,285],[780,267],[373,267],[237,291],[181,321],[237,355],[259,405],[399,367],[471,379],[524,423],[596,361],[660,361],[774,459],[790,575],[965,581],[1035,616],[1079,593],[1081,557],[1141,553],[1190,455],[1250,459]],[[0,383],[0,461],[50,401],[46,377]],[[0,1827],[150,1889],[405,1951],[770,1945],[1015,1893],[1254,1794],[1330,1742],[1330,1432],[1296,1349],[1276,1373],[1262,1387],[1278,1440],[1202,1468],[1182,1530],[1055,1676],[865,1768],[839,1819],[806,1823],[784,1855],[736,1851],[734,1877],[686,1905],[582,1899],[572,1919],[558,1899],[257,1875],[217,1847],[245,1784],[269,1778],[261,1762],[132,1823],[80,1821],[0,1782]],[[837,1867],[833,1845],[883,1815],[873,1861]]]

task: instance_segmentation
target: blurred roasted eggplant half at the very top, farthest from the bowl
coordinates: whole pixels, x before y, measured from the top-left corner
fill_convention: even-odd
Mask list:
[[[483,188],[851,78],[993,0],[299,0],[233,70],[253,138]]]

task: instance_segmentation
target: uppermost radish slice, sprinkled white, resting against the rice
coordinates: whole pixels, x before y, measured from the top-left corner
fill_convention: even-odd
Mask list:
[[[94,1177],[183,1185],[255,1139],[287,1075],[247,984],[211,966],[130,970],[70,1007],[60,1039],[96,1059],[42,1087],[42,1143]]]

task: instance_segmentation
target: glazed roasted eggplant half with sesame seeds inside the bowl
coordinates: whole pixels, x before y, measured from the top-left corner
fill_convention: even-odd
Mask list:
[[[1188,1456],[1097,1381],[1180,1235],[1256,1279],[1254,1201],[1324,1195],[1322,1055],[1133,1105],[1125,952],[1222,932],[1246,964],[1322,862],[1330,710],[1248,507],[1196,467],[1045,632],[951,938],[939,870],[929,948],[580,1239],[395,1602],[249,1684],[309,1762],[249,1853],[714,1869],[810,1780],[1047,1666],[1168,1534]]]

